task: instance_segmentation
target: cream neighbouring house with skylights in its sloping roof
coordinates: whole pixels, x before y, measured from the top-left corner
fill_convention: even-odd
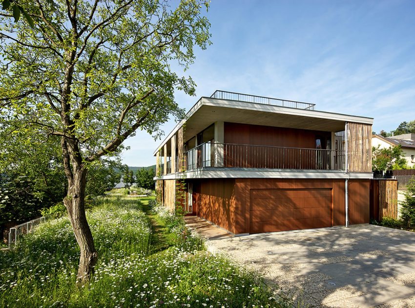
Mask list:
[[[413,168],[415,165],[415,133],[406,133],[392,137],[383,137],[381,135],[372,136],[373,147],[380,146],[381,149],[391,146],[402,146],[403,156],[407,161],[407,165]]]

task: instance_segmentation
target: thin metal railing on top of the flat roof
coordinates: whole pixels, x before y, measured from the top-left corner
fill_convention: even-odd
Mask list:
[[[241,94],[241,93],[234,93],[234,92],[227,92],[227,91],[220,91],[220,90],[216,90],[210,97],[219,98],[219,99],[228,99],[232,101],[240,101],[240,102],[248,102],[248,103],[256,103],[256,104],[267,104],[267,105],[274,105],[274,106],[281,106],[281,107],[290,107],[290,108],[297,108],[297,109],[314,110],[314,107],[315,107],[315,104],[310,104],[310,103],[288,101],[288,100],[279,99],[279,98]]]

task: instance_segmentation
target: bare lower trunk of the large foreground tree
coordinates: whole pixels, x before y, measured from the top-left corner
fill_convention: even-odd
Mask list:
[[[73,170],[71,177],[68,178],[67,196],[63,199],[76,241],[81,250],[78,281],[82,283],[89,280],[98,259],[94,239],[85,215],[86,173],[87,171],[84,168]]]

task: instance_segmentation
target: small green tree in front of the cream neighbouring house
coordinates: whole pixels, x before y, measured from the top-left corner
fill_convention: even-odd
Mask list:
[[[389,148],[380,148],[380,145],[372,148],[372,170],[385,171],[392,168],[394,164],[402,166],[406,160],[402,157],[403,150],[401,145]]]

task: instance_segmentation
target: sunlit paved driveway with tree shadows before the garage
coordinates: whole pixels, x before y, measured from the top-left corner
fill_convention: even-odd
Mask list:
[[[415,307],[415,233],[373,225],[219,237],[299,307]]]

